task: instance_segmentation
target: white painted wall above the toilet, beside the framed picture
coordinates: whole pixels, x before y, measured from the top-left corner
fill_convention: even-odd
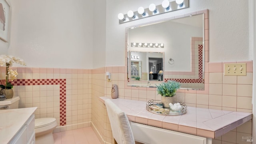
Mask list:
[[[23,58],[28,67],[92,68],[93,1],[9,0],[9,3],[10,47],[0,42],[8,54]]]

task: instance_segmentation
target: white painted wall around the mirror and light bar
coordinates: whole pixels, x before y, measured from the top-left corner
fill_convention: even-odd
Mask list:
[[[117,15],[139,6],[148,8],[162,0],[108,0],[106,8],[106,66],[125,64],[125,29],[141,23],[160,20],[197,10],[209,9],[210,62],[252,60],[249,48],[247,0],[190,0],[190,8],[118,24]]]

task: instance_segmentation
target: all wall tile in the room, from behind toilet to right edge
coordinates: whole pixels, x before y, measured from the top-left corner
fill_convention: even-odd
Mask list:
[[[252,61],[246,64],[246,76],[224,76],[224,63],[206,62],[205,89],[178,90],[176,101],[194,107],[252,112]],[[18,79],[13,83],[15,96],[20,96],[19,108],[36,106],[36,118],[55,117],[58,127],[54,132],[92,126],[102,144],[114,143],[106,107],[98,99],[111,97],[112,84],[118,85],[119,98],[160,100],[155,88],[127,86],[125,66],[93,70],[18,67],[17,70]],[[106,81],[107,71],[111,73],[111,82]],[[0,67],[0,82],[4,74],[5,67]],[[213,144],[250,144],[242,139],[244,136],[252,136],[252,121],[214,139]]]

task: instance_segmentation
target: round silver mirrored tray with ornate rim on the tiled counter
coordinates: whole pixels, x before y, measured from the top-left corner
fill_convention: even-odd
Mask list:
[[[153,112],[154,114],[160,114],[165,116],[175,116],[187,113],[187,106],[183,102],[180,102],[180,105],[182,106],[180,110],[172,110],[171,108],[159,108],[158,106],[156,106],[157,101],[160,100],[149,100],[148,102],[146,102],[147,110]]]

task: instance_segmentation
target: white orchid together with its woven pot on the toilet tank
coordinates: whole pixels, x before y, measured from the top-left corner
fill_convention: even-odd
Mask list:
[[[13,85],[8,82],[8,78],[10,75],[11,81],[13,81],[15,78],[17,78],[18,72],[17,70],[12,70],[9,67],[12,66],[13,63],[21,64],[26,66],[26,64],[23,62],[22,59],[16,58],[14,56],[9,55],[0,55],[0,66],[6,66],[6,74],[5,74],[5,84],[1,84],[1,94],[4,94],[6,98],[12,98],[13,97]]]

